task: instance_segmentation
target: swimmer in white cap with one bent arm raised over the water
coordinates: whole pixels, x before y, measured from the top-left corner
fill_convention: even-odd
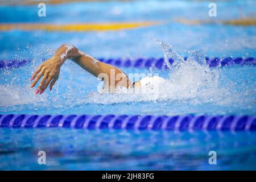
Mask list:
[[[63,44],[63,46],[57,49],[51,59],[48,59],[44,61],[44,63],[40,64],[34,75],[32,75],[30,80],[34,81],[31,84],[31,88],[33,88],[36,83],[39,82],[40,78],[42,78],[38,88],[36,89],[36,94],[42,94],[48,85],[49,90],[52,90],[53,85],[59,78],[61,65],[63,65],[67,59],[72,60],[76,64],[80,65],[80,67],[91,73],[93,76],[99,77],[102,74],[107,75],[105,79],[102,77],[101,80],[104,81],[104,88],[112,90],[111,92],[114,92],[117,86],[124,86],[126,88],[139,88],[144,85],[154,85],[165,81],[162,77],[151,76],[144,77],[136,82],[131,82],[126,73],[121,69],[110,64],[102,63],[101,61],[94,59],[92,56],[79,51],[79,49],[77,49],[75,46],[70,44]],[[118,75],[118,77],[121,79],[111,79],[112,72],[114,72],[115,75]]]

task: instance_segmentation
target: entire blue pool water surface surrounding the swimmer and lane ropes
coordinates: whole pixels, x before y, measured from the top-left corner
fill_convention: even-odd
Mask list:
[[[168,80],[158,99],[152,99],[147,95],[100,94],[100,81],[66,61],[52,92],[37,96],[30,89],[31,73],[63,43],[74,44],[98,59],[120,58],[122,63],[131,60],[133,65],[141,57],[153,60],[170,53],[152,40],[155,38],[170,43],[171,51],[182,57],[193,57],[196,49],[201,51],[196,52],[197,57],[210,59],[255,58],[255,26],[174,21],[211,20],[208,5],[208,1],[63,3],[47,5],[47,16],[41,18],[36,6],[1,5],[1,24],[158,23],[114,31],[2,30],[1,60],[31,61],[16,69],[0,69],[0,114],[256,115],[255,65],[209,68],[192,60],[175,72],[154,65],[122,66],[126,73],[158,73]],[[255,14],[254,7],[255,1],[217,2],[216,19],[250,16]],[[256,169],[253,131],[2,127],[0,133],[0,169]],[[47,153],[46,166],[37,162],[40,150]],[[209,151],[217,152],[217,165],[208,163]]]

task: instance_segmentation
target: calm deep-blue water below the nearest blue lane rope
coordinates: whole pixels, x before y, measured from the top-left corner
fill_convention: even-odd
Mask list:
[[[255,133],[1,129],[0,169],[255,170]],[[234,150],[235,149],[235,150]],[[46,151],[46,166],[38,151]],[[209,151],[217,165],[209,165]]]

